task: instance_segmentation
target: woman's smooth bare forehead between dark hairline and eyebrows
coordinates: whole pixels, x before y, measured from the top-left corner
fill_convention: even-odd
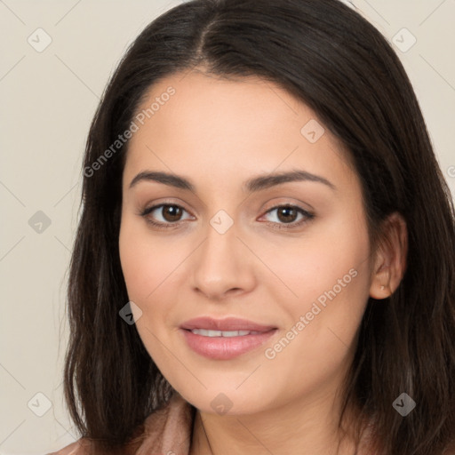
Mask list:
[[[206,177],[305,168],[346,174],[346,153],[315,113],[256,76],[227,80],[178,73],[154,84],[135,114],[126,178],[142,168]],[[140,118],[140,121],[137,119]],[[347,175],[345,175],[347,177]]]

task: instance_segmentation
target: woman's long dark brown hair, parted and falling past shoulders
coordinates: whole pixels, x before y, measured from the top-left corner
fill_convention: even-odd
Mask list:
[[[312,108],[355,164],[371,238],[388,214],[403,215],[407,270],[391,297],[368,301],[344,409],[356,403],[374,419],[378,453],[440,455],[455,439],[451,194],[400,60],[338,0],[185,2],[151,22],[116,68],[86,144],[69,270],[64,390],[76,427],[96,453],[120,452],[172,392],[135,325],[119,317],[128,302],[118,251],[128,141],[112,144],[156,81],[196,66],[263,77]],[[392,406],[403,392],[417,403],[406,417]]]

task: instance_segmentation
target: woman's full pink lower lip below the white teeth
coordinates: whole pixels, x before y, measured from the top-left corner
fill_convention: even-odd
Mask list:
[[[275,334],[276,330],[239,337],[204,337],[196,335],[192,331],[180,329],[191,349],[197,354],[215,360],[229,360],[251,351],[251,349],[263,345]]]

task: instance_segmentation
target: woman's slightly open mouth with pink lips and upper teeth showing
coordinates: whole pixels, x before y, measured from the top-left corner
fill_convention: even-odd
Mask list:
[[[202,327],[201,327],[202,326]],[[244,319],[192,319],[180,326],[188,347],[212,360],[229,360],[257,349],[278,329]]]

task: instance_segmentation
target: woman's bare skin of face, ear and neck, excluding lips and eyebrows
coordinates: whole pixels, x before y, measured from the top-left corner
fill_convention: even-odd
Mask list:
[[[307,140],[301,128],[312,119],[323,123],[280,86],[193,71],[160,81],[138,110],[170,85],[175,94],[130,141],[119,249],[129,298],[142,312],[135,312],[140,338],[172,387],[198,410],[191,453],[336,453],[340,390],[367,300],[386,298],[403,275],[403,220],[390,218],[389,242],[373,254],[360,181],[346,151],[327,128],[315,143]],[[251,177],[294,169],[335,189],[293,181],[251,195],[243,190]],[[143,171],[184,176],[196,191],[145,180],[130,188]],[[149,213],[149,220],[174,224],[160,230],[140,212],[164,202],[184,211],[180,218],[163,208]],[[268,212],[280,204],[315,218],[285,229],[303,215]],[[220,210],[233,221],[224,234],[210,224]],[[268,359],[267,347],[352,269],[350,283]],[[207,359],[179,330],[200,315],[242,317],[278,331],[234,359]],[[211,405],[220,393],[232,403],[224,415]],[[339,453],[352,449],[347,436]]]

